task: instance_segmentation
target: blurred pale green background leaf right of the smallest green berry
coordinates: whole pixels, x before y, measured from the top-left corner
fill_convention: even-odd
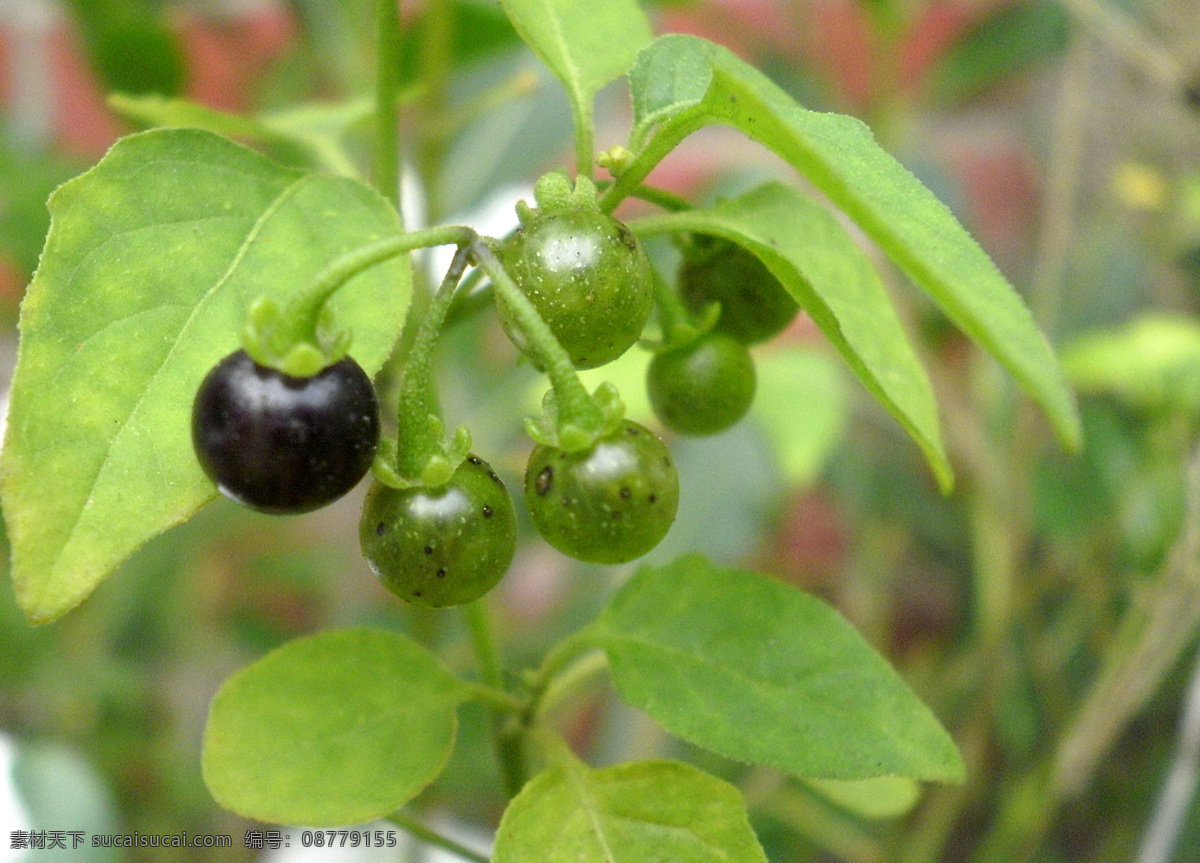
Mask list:
[[[838,361],[826,353],[772,346],[755,354],[758,390],[752,415],[767,432],[784,477],[809,485],[841,442],[846,385]],[[803,404],[803,410],[796,406]]]

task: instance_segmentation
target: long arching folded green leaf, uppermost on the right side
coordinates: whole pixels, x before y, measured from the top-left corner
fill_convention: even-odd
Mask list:
[[[628,194],[680,140],[702,126],[734,126],[806,176],[994,354],[1042,404],[1060,438],[1081,441],[1074,398],[1028,308],[932,192],[851,116],[798,106],[734,54],[695,36],[671,35],[641,53],[630,72],[635,157],[606,193]]]

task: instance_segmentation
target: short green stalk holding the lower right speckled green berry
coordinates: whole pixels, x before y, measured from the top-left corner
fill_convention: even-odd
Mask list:
[[[474,242],[472,252],[475,263],[492,280],[493,288],[504,298],[521,332],[541,360],[558,402],[559,427],[574,425],[590,431],[600,430],[604,426],[604,414],[584,389],[571,358],[554,338],[529,298],[516,286],[487,244]]]

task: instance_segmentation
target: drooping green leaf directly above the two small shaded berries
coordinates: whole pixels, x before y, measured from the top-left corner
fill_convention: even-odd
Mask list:
[[[754,252],[920,445],[942,487],[953,485],[934,388],[870,259],[828,209],[767,182],[710,210],[672,212],[630,227],[715,234]]]

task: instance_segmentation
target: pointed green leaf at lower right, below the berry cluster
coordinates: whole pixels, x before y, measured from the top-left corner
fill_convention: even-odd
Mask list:
[[[593,634],[620,697],[706,749],[804,778],[962,779],[950,736],[862,636],[764,575],[644,567]]]

